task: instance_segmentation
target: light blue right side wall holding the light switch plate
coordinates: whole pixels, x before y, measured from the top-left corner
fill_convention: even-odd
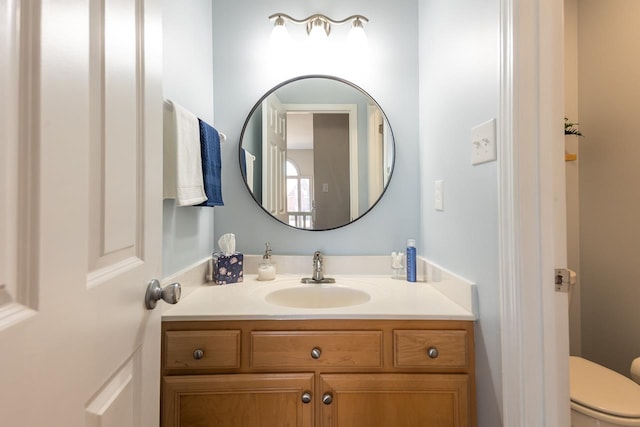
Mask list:
[[[471,129],[498,115],[499,4],[420,2],[420,238],[428,259],[478,285],[480,427],[502,425],[498,193],[496,163],[471,165]]]

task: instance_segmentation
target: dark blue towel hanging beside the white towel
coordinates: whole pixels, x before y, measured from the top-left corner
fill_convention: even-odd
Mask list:
[[[220,134],[206,122],[200,123],[200,151],[202,153],[202,178],[207,200],[198,206],[224,206],[222,202],[222,160],[220,158]]]

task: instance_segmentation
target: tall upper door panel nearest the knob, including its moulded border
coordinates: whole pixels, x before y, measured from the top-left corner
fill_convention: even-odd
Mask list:
[[[114,268],[136,264],[141,231],[139,153],[142,105],[137,90],[137,13],[135,3],[91,3],[90,56],[90,282]]]

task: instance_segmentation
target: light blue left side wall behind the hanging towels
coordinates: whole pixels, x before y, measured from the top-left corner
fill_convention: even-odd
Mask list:
[[[213,123],[210,0],[163,1],[163,93]],[[215,208],[218,209],[218,208]],[[213,250],[213,209],[163,202],[163,277]]]

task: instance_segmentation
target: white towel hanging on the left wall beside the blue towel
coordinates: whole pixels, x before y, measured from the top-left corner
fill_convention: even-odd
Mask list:
[[[198,118],[175,102],[164,108],[164,198],[178,206],[207,200],[202,180]]]

